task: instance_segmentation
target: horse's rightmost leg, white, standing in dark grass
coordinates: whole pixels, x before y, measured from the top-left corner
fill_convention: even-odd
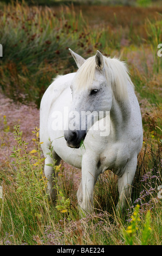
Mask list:
[[[125,166],[124,173],[118,178],[119,202],[117,211],[124,213],[125,206],[131,198],[132,182],[137,168],[137,156],[129,160]]]

